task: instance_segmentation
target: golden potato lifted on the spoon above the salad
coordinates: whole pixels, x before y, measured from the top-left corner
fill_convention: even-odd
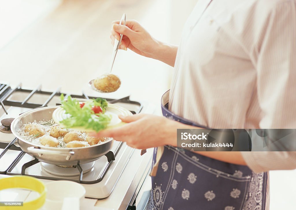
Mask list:
[[[120,79],[114,74],[104,75],[94,80],[94,87],[106,93],[117,91],[120,85]]]

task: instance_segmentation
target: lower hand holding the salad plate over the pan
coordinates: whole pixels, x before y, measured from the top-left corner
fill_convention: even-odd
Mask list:
[[[165,117],[150,114],[134,114],[119,116],[126,125],[99,133],[91,133],[94,137],[112,137],[126,142],[128,146],[137,149],[147,149],[163,145],[177,145],[177,128],[181,123]]]

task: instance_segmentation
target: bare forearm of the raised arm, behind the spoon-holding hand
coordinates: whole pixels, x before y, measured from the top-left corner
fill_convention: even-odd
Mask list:
[[[154,53],[150,57],[174,67],[178,46],[171,45],[168,43],[163,43],[160,41],[156,41],[156,42],[157,42],[157,48],[155,49]]]

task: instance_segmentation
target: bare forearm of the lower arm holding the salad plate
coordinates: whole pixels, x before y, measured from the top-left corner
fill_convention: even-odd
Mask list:
[[[200,127],[195,127],[192,125],[185,125],[180,122],[176,122],[173,120],[168,121],[168,129],[167,129],[167,140],[166,144],[177,147],[177,129],[198,129]],[[238,165],[247,165],[244,161],[244,158],[241,152],[219,152],[219,151],[194,151],[197,154],[213,158],[219,161],[238,164]]]

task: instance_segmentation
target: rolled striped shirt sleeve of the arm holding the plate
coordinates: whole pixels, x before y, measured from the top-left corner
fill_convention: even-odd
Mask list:
[[[260,128],[296,128],[296,1],[281,1],[271,11],[257,68]],[[296,139],[295,139],[296,141]],[[295,169],[296,152],[242,152],[254,172]]]

